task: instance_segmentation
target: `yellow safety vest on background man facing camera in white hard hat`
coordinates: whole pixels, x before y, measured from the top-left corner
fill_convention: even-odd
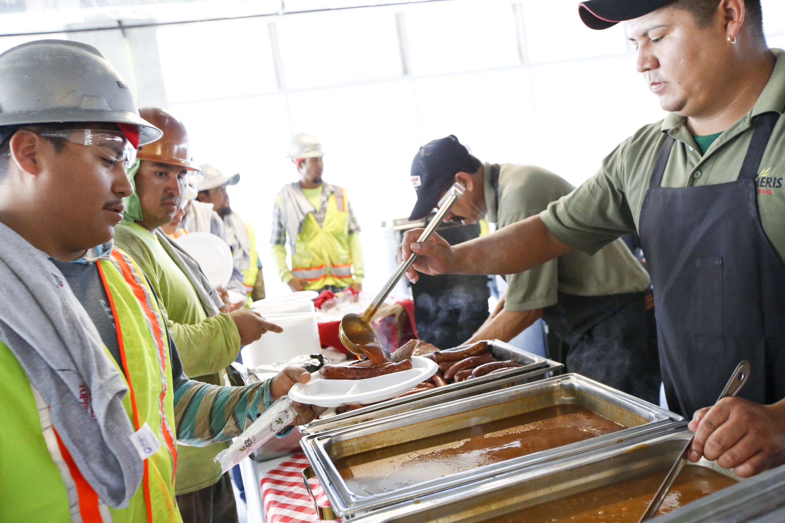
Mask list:
[[[312,213],[305,216],[296,245],[291,273],[294,278],[305,279],[305,290],[327,285],[348,287],[354,283],[349,252],[349,212],[342,187],[341,194],[330,194],[322,227]]]

